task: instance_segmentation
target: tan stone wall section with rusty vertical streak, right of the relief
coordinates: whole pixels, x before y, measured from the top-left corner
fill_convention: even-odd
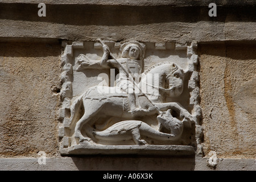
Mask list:
[[[255,158],[255,46],[200,48],[204,152],[220,158]]]

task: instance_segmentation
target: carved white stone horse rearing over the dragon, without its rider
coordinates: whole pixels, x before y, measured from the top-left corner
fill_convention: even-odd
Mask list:
[[[146,84],[152,86],[152,80],[148,81],[148,76],[158,74],[159,93],[141,92],[137,100],[141,110],[136,113],[129,111],[127,93],[118,90],[116,86],[93,86],[81,94],[71,105],[70,128],[75,127],[75,138],[77,143],[89,144],[90,139],[86,134],[82,134],[85,125],[92,125],[99,118],[121,118],[121,120],[132,120],[146,115],[159,115],[162,111],[173,109],[185,122],[193,120],[192,115],[184,109],[178,102],[163,103],[163,94],[170,97],[177,97],[183,92],[184,71],[175,63],[166,63],[146,71],[139,85]],[[156,78],[155,78],[156,79]],[[108,92],[106,92],[108,90]],[[117,92],[118,90],[118,92]],[[154,97],[150,97],[150,96]],[[155,97],[156,95],[156,97]],[[81,110],[84,111],[81,115]],[[78,121],[77,121],[78,120]],[[77,122],[76,122],[77,121]]]

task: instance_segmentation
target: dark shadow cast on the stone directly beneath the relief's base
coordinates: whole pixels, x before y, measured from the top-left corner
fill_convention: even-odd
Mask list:
[[[80,171],[193,171],[195,156],[97,155],[72,157]]]

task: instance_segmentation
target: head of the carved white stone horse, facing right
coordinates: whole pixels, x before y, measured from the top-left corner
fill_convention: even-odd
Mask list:
[[[177,97],[183,92],[184,72],[175,63],[168,64],[170,72],[166,75],[164,92],[170,97]]]

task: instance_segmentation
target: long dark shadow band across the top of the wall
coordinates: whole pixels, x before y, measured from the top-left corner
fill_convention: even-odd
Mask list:
[[[109,5],[47,5],[46,17],[38,16],[38,4],[3,4],[0,19],[52,22],[70,25],[135,26],[165,22],[216,21],[254,22],[251,6],[217,7],[217,17],[209,17],[208,6],[109,6]],[[33,16],[34,15],[34,16]],[[229,17],[226,19],[226,16]]]

